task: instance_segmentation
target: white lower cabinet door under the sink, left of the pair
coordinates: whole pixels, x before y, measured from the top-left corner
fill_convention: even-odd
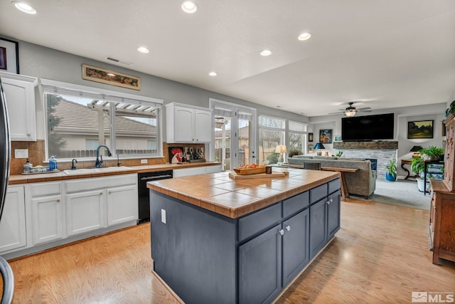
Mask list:
[[[65,201],[68,236],[103,227],[105,208],[102,189],[67,194]]]

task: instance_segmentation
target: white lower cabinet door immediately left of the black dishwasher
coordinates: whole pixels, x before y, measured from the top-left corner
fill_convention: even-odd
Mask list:
[[[138,219],[137,185],[107,189],[107,226]]]

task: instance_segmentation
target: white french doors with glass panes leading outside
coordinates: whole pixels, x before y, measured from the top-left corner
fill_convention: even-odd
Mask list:
[[[210,98],[213,109],[214,143],[212,155],[225,171],[257,163],[256,109]]]

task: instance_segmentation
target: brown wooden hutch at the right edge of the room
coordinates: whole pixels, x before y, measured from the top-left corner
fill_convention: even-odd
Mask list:
[[[430,180],[432,202],[429,217],[429,243],[433,263],[439,258],[455,262],[455,116],[451,113],[444,120],[446,147],[444,154],[444,180]]]

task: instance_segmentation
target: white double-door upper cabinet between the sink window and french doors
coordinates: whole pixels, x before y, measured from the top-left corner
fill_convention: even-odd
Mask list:
[[[166,105],[166,141],[208,143],[212,140],[212,110],[169,103]]]

